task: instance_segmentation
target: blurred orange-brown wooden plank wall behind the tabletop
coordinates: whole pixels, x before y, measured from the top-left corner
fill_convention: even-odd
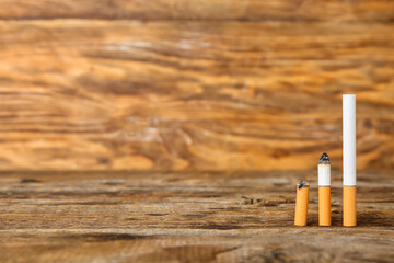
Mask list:
[[[394,167],[394,1],[2,0],[0,170]]]

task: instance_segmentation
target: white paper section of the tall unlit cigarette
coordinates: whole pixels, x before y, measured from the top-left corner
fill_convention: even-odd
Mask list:
[[[344,186],[356,186],[356,95],[343,95]]]

